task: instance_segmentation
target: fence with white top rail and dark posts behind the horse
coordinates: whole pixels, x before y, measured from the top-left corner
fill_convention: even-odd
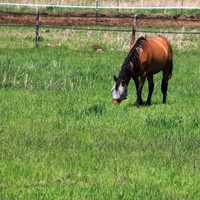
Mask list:
[[[96,10],[96,15],[94,16],[96,18],[96,21],[98,20],[97,18],[100,18],[98,12],[101,9],[109,9],[109,10],[170,10],[170,9],[177,9],[177,10],[200,10],[200,7],[193,7],[193,6],[184,6],[184,1],[181,1],[181,6],[147,6],[147,7],[142,7],[142,6],[122,6],[120,7],[120,1],[118,1],[117,6],[106,6],[106,5],[101,5],[100,4],[100,0],[96,0],[96,4],[95,5],[67,5],[67,4],[33,4],[33,3],[9,3],[9,2],[3,2],[0,3],[0,7],[29,7],[29,8],[33,8],[36,10],[36,16],[35,16],[35,42],[36,42],[36,47],[39,47],[39,30],[40,30],[40,9],[41,8],[73,8],[73,9],[94,9]],[[87,16],[85,16],[87,17]],[[117,17],[116,17],[117,18]],[[132,36],[135,35],[136,32],[142,32],[142,33],[167,33],[167,34],[198,34],[200,35],[200,31],[186,31],[184,28],[181,28],[180,31],[158,31],[158,30],[145,30],[145,29],[141,29],[140,27],[138,27],[137,25],[137,16],[134,15],[134,17],[131,18],[132,20],[132,25],[133,28],[132,29],[128,29],[128,28],[108,28],[108,27],[83,27],[83,26],[63,26],[63,25],[51,25],[48,27],[52,27],[52,28],[65,28],[65,29],[70,29],[70,30],[85,30],[85,31],[118,31],[118,32],[132,32]],[[5,25],[5,24],[0,24]],[[13,26],[13,24],[9,24],[11,26]],[[47,27],[46,25],[43,25],[43,27]]]

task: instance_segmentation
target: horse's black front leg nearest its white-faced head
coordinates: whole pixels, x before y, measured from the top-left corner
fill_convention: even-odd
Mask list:
[[[145,77],[141,76],[141,77],[134,77],[134,82],[135,82],[135,87],[136,87],[136,91],[137,91],[137,100],[136,100],[136,106],[140,106],[143,105],[144,102],[142,100],[142,89],[144,86],[144,82],[145,82]]]

